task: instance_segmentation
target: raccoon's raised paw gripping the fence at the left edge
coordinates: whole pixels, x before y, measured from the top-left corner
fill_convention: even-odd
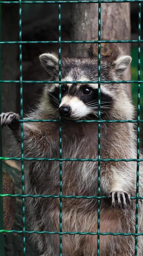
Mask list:
[[[14,120],[20,119],[20,115],[13,113],[13,112],[7,112],[7,113],[2,113],[0,115],[0,120],[1,120],[1,126],[8,125],[12,130],[17,130],[19,127],[20,123],[12,123]]]

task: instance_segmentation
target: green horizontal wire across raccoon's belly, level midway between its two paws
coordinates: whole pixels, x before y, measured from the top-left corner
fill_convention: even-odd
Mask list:
[[[1,156],[0,157],[0,160],[17,160],[17,161],[20,161],[21,158],[20,157],[4,157],[4,156]],[[24,160],[25,161],[31,161],[31,160],[34,160],[34,161],[70,161],[70,162],[74,162],[74,161],[80,161],[80,162],[86,162],[86,161],[90,161],[90,162],[98,162],[98,158],[96,159],[91,159],[91,158],[86,158],[86,159],[82,159],[82,158],[36,158],[36,157],[31,157],[31,158],[26,158],[24,157]],[[131,159],[112,159],[112,158],[108,158],[108,159],[100,159],[100,161],[102,162],[142,162],[143,161],[143,158],[140,158],[140,159],[134,159],[134,158],[131,158]]]

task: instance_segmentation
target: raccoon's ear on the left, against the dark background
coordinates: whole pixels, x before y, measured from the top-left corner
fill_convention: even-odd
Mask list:
[[[39,56],[39,59],[49,76],[54,77],[55,73],[59,70],[59,59],[57,55],[52,53],[43,53]]]

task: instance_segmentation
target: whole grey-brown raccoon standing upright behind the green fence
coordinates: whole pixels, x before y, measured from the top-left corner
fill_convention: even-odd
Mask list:
[[[59,66],[56,54],[40,55],[48,79],[57,81]],[[62,81],[97,81],[96,58],[68,58],[61,60]],[[101,59],[101,80],[122,80],[130,65],[130,56]],[[62,83],[62,82],[61,82]],[[62,122],[62,157],[91,158],[98,155],[98,124],[75,120],[98,119],[98,84],[46,84],[36,110],[28,119],[58,119]],[[125,84],[101,84],[101,120],[133,120],[134,107],[126,94]],[[1,125],[8,125],[17,141],[16,156],[20,152],[19,114],[2,113]],[[72,122],[73,121],[73,122]],[[24,122],[24,157],[59,158],[59,123]],[[135,159],[136,133],[133,123],[101,123],[101,159]],[[63,195],[96,196],[97,162],[63,161]],[[139,195],[143,191],[142,162],[140,162]],[[25,161],[25,193],[59,195],[58,161]],[[136,162],[101,161],[100,232],[135,232]],[[59,198],[27,198],[26,206],[31,228],[36,231],[59,231]],[[97,199],[63,198],[63,232],[97,232]],[[138,232],[143,232],[143,204],[139,200]],[[41,256],[58,256],[58,234],[31,234]],[[97,235],[63,235],[64,256],[97,255]],[[101,256],[133,256],[134,236],[100,235]],[[143,255],[143,237],[138,236],[138,255]]]

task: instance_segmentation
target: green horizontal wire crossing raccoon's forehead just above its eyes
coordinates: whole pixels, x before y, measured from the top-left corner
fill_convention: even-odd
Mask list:
[[[0,80],[0,83],[19,83],[19,80]],[[34,80],[22,80],[22,83],[37,83],[37,84],[60,84],[60,81],[34,81]],[[62,84],[97,84],[98,81],[62,81]],[[129,80],[129,81],[125,81],[125,80],[121,80],[121,81],[100,81],[101,84],[132,84],[132,83],[143,83],[143,80]]]

